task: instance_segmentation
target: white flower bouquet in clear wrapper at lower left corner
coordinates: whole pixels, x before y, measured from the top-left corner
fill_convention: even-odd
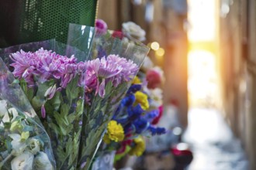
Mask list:
[[[50,138],[1,58],[0,169],[55,169]]]

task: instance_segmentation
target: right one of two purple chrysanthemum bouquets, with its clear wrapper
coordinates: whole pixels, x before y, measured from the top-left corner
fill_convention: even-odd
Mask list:
[[[78,165],[88,169],[106,133],[119,102],[129,89],[149,48],[141,43],[124,42],[112,37],[111,32],[101,32],[95,28],[88,50],[88,42],[80,36],[84,26],[70,25],[71,32],[67,44],[85,46],[88,52],[88,66],[85,81],[85,114],[81,131]]]

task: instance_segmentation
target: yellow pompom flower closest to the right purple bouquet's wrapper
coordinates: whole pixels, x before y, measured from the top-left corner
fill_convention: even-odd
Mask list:
[[[106,144],[109,144],[110,141],[123,141],[124,131],[121,124],[117,124],[116,121],[110,121],[108,124],[107,132],[103,138]]]

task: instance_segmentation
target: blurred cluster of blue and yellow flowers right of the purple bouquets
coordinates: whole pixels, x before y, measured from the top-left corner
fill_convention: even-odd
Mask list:
[[[145,150],[143,137],[165,133],[164,128],[155,126],[161,117],[162,107],[156,107],[156,101],[143,87],[140,79],[136,77],[108,124],[103,138],[105,149],[117,150],[117,159],[127,153],[142,155]]]

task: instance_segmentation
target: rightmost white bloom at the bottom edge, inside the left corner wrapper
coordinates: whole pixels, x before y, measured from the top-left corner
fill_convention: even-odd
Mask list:
[[[36,170],[52,170],[54,169],[51,165],[50,160],[46,153],[43,151],[38,152],[36,158],[34,159],[34,169]]]

